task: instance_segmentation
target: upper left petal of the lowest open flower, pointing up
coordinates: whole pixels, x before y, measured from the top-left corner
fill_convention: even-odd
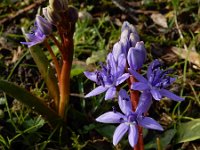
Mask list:
[[[121,111],[124,114],[128,114],[129,112],[132,112],[132,104],[130,101],[130,97],[128,96],[126,90],[124,90],[124,89],[121,89],[119,91],[118,104],[119,104]]]

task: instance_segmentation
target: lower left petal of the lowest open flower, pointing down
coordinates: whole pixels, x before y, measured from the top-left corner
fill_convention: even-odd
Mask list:
[[[125,124],[125,123],[121,123],[114,132],[113,135],[113,145],[117,145],[119,143],[119,141],[122,139],[122,137],[124,136],[124,134],[128,131],[129,129],[129,125]]]

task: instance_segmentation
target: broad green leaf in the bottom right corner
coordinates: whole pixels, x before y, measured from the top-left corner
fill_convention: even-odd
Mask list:
[[[200,119],[181,123],[177,128],[175,143],[183,143],[200,139]]]

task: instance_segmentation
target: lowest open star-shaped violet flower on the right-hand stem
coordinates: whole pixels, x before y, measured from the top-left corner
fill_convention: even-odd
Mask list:
[[[138,125],[148,129],[163,131],[162,126],[154,119],[142,115],[145,110],[140,110],[141,108],[138,107],[135,112],[132,111],[130,98],[123,89],[119,91],[118,104],[123,114],[114,110],[96,118],[96,121],[102,123],[119,123],[113,135],[114,145],[117,145],[126,132],[128,132],[129,143],[134,147],[138,141]]]

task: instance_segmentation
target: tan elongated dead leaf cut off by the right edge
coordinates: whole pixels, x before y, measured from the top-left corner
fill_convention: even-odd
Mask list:
[[[182,59],[188,59],[189,62],[200,68],[200,54],[196,51],[187,51],[183,48],[178,47],[172,47],[171,50]]]

